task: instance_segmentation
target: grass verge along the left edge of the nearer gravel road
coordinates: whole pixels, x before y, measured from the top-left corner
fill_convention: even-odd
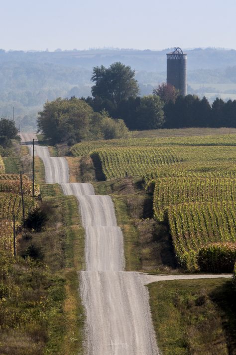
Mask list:
[[[53,189],[53,184],[51,186]],[[84,229],[79,224],[78,202],[74,196],[48,196],[60,210],[60,238],[44,241],[45,262],[62,278],[61,308],[50,317],[46,354],[84,354],[84,310],[79,295],[78,271],[84,268]],[[57,261],[56,261],[57,260]]]

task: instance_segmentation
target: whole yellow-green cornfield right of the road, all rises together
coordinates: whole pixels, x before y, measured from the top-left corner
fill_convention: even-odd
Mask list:
[[[154,193],[154,217],[168,226],[184,270],[198,270],[199,248],[236,242],[236,134],[129,138],[95,145],[83,142],[71,151],[92,157],[99,180],[139,178]]]

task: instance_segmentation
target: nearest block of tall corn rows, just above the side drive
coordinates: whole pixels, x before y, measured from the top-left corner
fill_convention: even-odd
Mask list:
[[[166,218],[177,260],[188,271],[198,269],[196,255],[202,246],[236,243],[235,202],[179,203],[168,207]]]

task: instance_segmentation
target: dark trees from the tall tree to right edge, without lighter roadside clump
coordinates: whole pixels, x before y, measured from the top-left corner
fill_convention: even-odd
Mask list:
[[[118,74],[119,73],[119,74]],[[140,97],[134,71],[120,62],[109,68],[93,68],[92,97],[85,101],[95,111],[106,109],[111,117],[122,118],[131,129],[183,127],[236,127],[236,100],[181,96],[170,84],[162,83],[151,95]],[[123,89],[125,88],[125,90]]]

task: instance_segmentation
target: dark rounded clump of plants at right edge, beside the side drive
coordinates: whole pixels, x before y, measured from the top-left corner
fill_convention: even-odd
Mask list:
[[[236,243],[212,243],[201,247],[197,264],[202,272],[232,273],[236,263]]]

